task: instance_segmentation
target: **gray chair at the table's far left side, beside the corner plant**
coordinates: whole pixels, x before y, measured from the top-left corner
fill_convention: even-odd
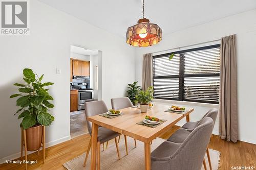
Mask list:
[[[127,97],[113,98],[113,99],[111,99],[111,106],[112,106],[112,109],[119,110],[119,109],[124,109],[124,108],[127,108],[127,107],[133,107],[133,103]],[[119,143],[119,140],[120,140],[120,136],[121,136],[121,134],[119,134],[118,143]],[[124,135],[124,140],[125,140],[125,143],[127,143],[126,142],[126,140],[127,140],[126,135]],[[135,147],[137,147],[136,139],[134,139],[134,143],[135,143]],[[106,144],[108,145],[108,143],[106,143]],[[128,155],[127,150],[126,150],[126,155]]]

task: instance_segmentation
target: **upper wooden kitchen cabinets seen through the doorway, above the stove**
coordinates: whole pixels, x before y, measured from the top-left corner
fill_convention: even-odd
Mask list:
[[[73,59],[73,76],[90,77],[90,61],[80,61]]]

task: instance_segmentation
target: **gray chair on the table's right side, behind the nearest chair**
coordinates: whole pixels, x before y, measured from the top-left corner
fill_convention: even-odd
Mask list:
[[[217,115],[218,115],[218,109],[212,108],[198,122],[187,122],[185,125],[181,127],[181,129],[178,129],[167,140],[175,143],[182,143],[186,139],[186,137],[190,134],[190,132],[200,125],[204,117],[210,117],[212,120],[214,120],[214,124],[215,124]],[[208,147],[206,149],[206,155],[208,158],[210,170],[212,170]],[[206,168],[205,160],[203,161],[203,163],[204,163],[204,167]]]

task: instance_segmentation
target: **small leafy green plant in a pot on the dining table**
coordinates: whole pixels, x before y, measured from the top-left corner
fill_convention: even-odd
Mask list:
[[[140,104],[141,112],[147,112],[148,103],[152,102],[153,99],[153,87],[148,87],[145,91],[140,90],[136,95],[136,100]]]

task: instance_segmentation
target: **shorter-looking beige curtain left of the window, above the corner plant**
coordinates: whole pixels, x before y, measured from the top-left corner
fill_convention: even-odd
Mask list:
[[[152,54],[143,55],[142,65],[142,90],[153,86],[153,61]]]

